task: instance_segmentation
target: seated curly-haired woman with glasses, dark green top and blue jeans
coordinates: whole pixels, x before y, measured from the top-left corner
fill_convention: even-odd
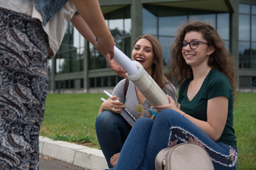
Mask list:
[[[203,22],[183,26],[172,45],[169,71],[180,85],[178,107],[167,96],[169,104],[153,106],[159,113],[155,120],[137,120],[114,169],[153,170],[161,149],[182,142],[205,148],[215,169],[236,169],[235,69],[217,31]]]

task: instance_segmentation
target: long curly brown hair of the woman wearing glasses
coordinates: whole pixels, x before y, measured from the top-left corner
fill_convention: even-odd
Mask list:
[[[235,98],[236,84],[233,57],[226,49],[222,38],[220,38],[220,35],[217,33],[217,30],[206,22],[193,21],[186,23],[186,25],[181,26],[178,29],[176,40],[171,47],[171,63],[169,67],[170,79],[176,78],[178,84],[181,85],[186,79],[188,79],[188,77],[193,75],[192,68],[190,65],[186,64],[186,61],[183,59],[182,50],[178,44],[178,42],[184,40],[186,33],[191,31],[201,33],[206,42],[215,47],[215,52],[213,52],[209,57],[208,65],[228,77],[233,89],[233,97]]]

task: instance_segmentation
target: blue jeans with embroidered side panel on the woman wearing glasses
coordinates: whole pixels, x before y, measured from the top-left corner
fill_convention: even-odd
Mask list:
[[[161,111],[156,120],[137,120],[122,147],[114,169],[122,170],[129,167],[153,170],[156,154],[165,147],[173,147],[181,142],[196,142],[205,147],[215,169],[236,169],[236,148],[214,142],[190,120],[170,109]]]

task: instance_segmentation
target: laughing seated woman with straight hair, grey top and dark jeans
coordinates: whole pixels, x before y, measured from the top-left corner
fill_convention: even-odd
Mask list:
[[[176,102],[175,88],[164,76],[162,48],[157,38],[149,34],[137,38],[132,50],[132,60],[141,63],[156,84]],[[126,79],[123,79],[114,87],[114,96],[102,103],[95,123],[97,138],[110,168],[117,163],[119,152],[131,130],[128,123],[119,115],[122,108],[127,108],[135,118],[151,118],[150,105],[146,98],[132,81],[129,81],[127,94],[124,96],[125,84]]]

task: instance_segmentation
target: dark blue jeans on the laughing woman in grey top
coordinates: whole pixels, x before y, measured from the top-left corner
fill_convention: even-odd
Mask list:
[[[121,115],[111,111],[100,113],[96,119],[95,128],[107,165],[111,168],[110,158],[121,152],[131,128]]]

